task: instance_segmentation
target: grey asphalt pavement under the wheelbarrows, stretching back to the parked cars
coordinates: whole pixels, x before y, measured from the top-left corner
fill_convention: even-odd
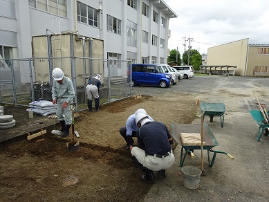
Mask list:
[[[204,122],[212,131],[219,146],[215,151],[228,152],[216,154],[212,167],[209,166],[207,152],[204,151],[204,172],[199,187],[194,190],[183,185],[180,172],[180,149],[174,150],[176,162],[167,169],[167,178],[156,181],[144,201],[268,201],[268,165],[269,136],[262,136],[257,141],[259,125],[250,115],[250,110],[259,110],[259,102],[269,109],[268,78],[250,78],[236,76],[200,76],[180,80],[168,89],[147,92],[154,94],[165,91],[192,93],[194,100],[200,102],[222,102],[225,104],[223,127],[219,117]],[[151,87],[147,87],[152,89]],[[140,93],[141,88],[133,88],[133,93]],[[145,89],[144,89],[145,91]],[[254,93],[253,93],[254,92]],[[192,124],[201,123],[203,111],[198,108]],[[210,159],[212,153],[210,152]],[[187,154],[183,166],[192,165],[201,169],[201,150],[194,150],[194,158]]]

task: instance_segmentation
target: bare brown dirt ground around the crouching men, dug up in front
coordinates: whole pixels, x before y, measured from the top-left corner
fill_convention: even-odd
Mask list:
[[[187,93],[134,96],[104,105],[99,112],[80,112],[75,121],[78,151],[67,151],[71,135],[62,139],[49,131],[31,143],[5,143],[0,147],[1,201],[142,201],[151,184],[140,181],[142,172],[131,161],[120,127],[143,108],[171,131],[171,122],[191,123],[197,107]],[[78,181],[67,185],[66,179]]]

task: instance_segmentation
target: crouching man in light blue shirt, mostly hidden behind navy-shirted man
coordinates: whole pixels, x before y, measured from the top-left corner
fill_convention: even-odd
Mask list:
[[[129,118],[127,118],[126,125],[124,127],[120,128],[120,135],[127,143],[127,149],[130,148],[130,146],[133,146],[133,137],[136,138],[136,132],[138,131],[138,126],[136,125],[136,115],[138,113],[144,113],[149,117],[150,120],[153,121],[153,118],[151,118],[145,109],[138,109],[135,113],[131,114]]]

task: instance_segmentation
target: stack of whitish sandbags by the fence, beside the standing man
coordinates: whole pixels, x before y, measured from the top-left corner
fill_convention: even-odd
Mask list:
[[[39,114],[41,116],[47,116],[49,114],[56,113],[57,105],[53,104],[53,102],[47,100],[39,100],[29,103],[30,108],[26,109],[26,111],[33,111],[33,113]]]

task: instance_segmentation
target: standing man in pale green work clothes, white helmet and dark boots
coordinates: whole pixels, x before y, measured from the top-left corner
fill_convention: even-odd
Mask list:
[[[53,69],[53,87],[51,89],[53,104],[57,104],[56,116],[62,125],[62,138],[69,135],[72,124],[72,111],[69,104],[75,98],[75,91],[72,81],[64,76],[60,68]]]

